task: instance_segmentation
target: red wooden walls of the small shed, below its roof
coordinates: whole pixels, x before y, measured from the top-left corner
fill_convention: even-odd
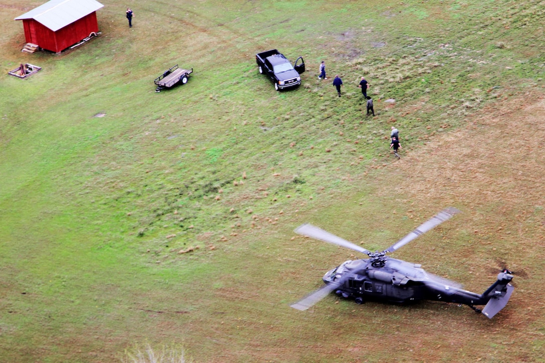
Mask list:
[[[60,52],[87,38],[90,33],[99,31],[95,11],[56,32],[51,31],[51,29],[41,25],[34,19],[24,19],[23,28],[25,28],[27,43],[38,44],[41,48],[53,52]]]

